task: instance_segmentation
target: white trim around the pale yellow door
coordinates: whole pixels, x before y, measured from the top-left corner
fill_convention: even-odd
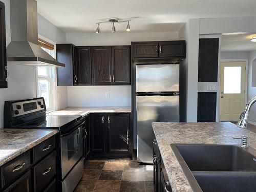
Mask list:
[[[246,105],[247,103],[247,90],[248,90],[248,59],[221,59],[220,60],[220,65],[221,62],[245,62],[245,97],[244,97],[244,103]],[[220,98],[220,65],[218,68],[218,97]],[[218,122],[220,121],[220,99],[217,99],[217,112],[218,112]]]

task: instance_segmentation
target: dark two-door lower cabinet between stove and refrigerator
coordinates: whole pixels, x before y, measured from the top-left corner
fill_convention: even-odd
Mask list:
[[[130,113],[92,113],[90,122],[89,156],[130,156]]]

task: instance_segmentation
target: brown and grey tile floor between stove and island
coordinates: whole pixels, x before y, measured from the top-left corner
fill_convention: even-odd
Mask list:
[[[89,160],[75,192],[153,192],[153,165],[130,159]]]

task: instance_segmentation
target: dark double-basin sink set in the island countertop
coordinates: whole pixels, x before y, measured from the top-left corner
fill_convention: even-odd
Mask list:
[[[171,144],[193,191],[256,191],[256,150],[237,145]]]

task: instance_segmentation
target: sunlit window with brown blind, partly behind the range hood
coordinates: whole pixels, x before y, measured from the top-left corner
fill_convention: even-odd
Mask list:
[[[55,58],[54,45],[38,39],[38,45]],[[54,67],[37,67],[37,96],[44,97],[47,111],[55,110],[56,103],[56,69]]]

